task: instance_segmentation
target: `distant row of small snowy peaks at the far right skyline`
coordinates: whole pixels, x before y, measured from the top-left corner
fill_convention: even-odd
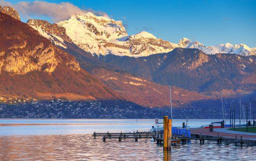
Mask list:
[[[178,43],[182,48],[196,48],[200,49],[206,54],[226,53],[226,54],[239,54],[244,56],[256,55],[256,48],[249,48],[245,44],[232,45],[230,43],[205,46],[197,41],[190,41],[187,38],[183,38]]]

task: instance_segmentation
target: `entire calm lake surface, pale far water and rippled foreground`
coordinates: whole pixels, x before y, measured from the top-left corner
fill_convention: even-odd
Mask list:
[[[218,120],[189,120],[189,126],[200,127]],[[182,125],[185,120],[176,120],[174,126]],[[112,159],[112,160],[163,160],[163,147],[151,139],[93,139],[96,132],[133,132],[148,131],[155,120],[136,119],[0,119],[0,160],[67,160],[67,159]],[[31,125],[18,125],[31,124]],[[45,125],[32,125],[45,124]],[[52,124],[52,125],[51,125]],[[57,125],[62,124],[62,125]],[[71,125],[68,125],[71,124]],[[239,159],[254,160],[254,146],[206,141],[200,145],[193,141],[172,147],[168,154],[171,159]]]

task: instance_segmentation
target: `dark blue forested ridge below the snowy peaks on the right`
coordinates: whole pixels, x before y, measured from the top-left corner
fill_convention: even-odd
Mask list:
[[[175,48],[169,53],[145,57],[109,54],[100,59],[144,79],[192,91],[255,90],[256,87],[254,55],[210,55],[199,49]]]

